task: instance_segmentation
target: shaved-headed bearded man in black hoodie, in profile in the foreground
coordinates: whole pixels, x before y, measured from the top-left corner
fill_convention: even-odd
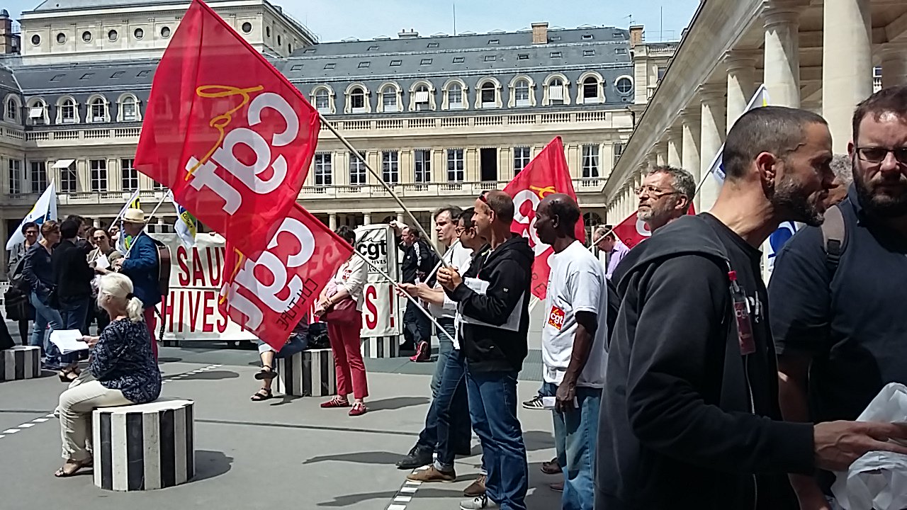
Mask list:
[[[780,421],[757,249],[819,225],[834,175],[822,117],[768,106],[727,133],[715,206],[631,250],[599,425],[596,507],[795,508],[787,473],[842,470],[907,426]]]

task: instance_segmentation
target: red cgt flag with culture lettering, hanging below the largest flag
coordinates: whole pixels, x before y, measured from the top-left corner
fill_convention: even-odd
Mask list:
[[[298,204],[268,240],[253,259],[228,242],[219,308],[279,351],[353,248]]]

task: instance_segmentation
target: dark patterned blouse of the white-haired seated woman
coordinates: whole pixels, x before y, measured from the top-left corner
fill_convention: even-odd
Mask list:
[[[89,366],[103,387],[119,389],[135,404],[161,395],[161,370],[151,353],[151,337],[144,322],[114,320],[101,332]]]

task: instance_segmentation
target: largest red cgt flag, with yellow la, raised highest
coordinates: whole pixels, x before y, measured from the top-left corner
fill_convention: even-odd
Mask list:
[[[297,200],[318,123],[296,87],[194,0],[155,72],[135,166],[255,255]]]

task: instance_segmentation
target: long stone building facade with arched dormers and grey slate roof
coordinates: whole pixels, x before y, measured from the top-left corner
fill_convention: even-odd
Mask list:
[[[652,86],[646,70],[654,76],[664,58],[635,56],[642,27],[542,23],[513,33],[410,30],[319,44],[267,0],[210,5],[365,155],[426,226],[439,206],[469,206],[481,191],[502,189],[555,136],[563,139],[587,219],[602,221],[601,189],[633,130],[634,108],[648,97],[640,100],[640,91]],[[163,187],[132,162],[157,61],[188,6],[54,0],[23,13],[21,54],[6,55],[0,68],[4,239],[51,180],[61,215],[104,226],[136,189],[148,211],[161,200]],[[331,227],[402,217],[324,127],[299,201]],[[164,204],[152,222],[171,225],[171,209]]]

